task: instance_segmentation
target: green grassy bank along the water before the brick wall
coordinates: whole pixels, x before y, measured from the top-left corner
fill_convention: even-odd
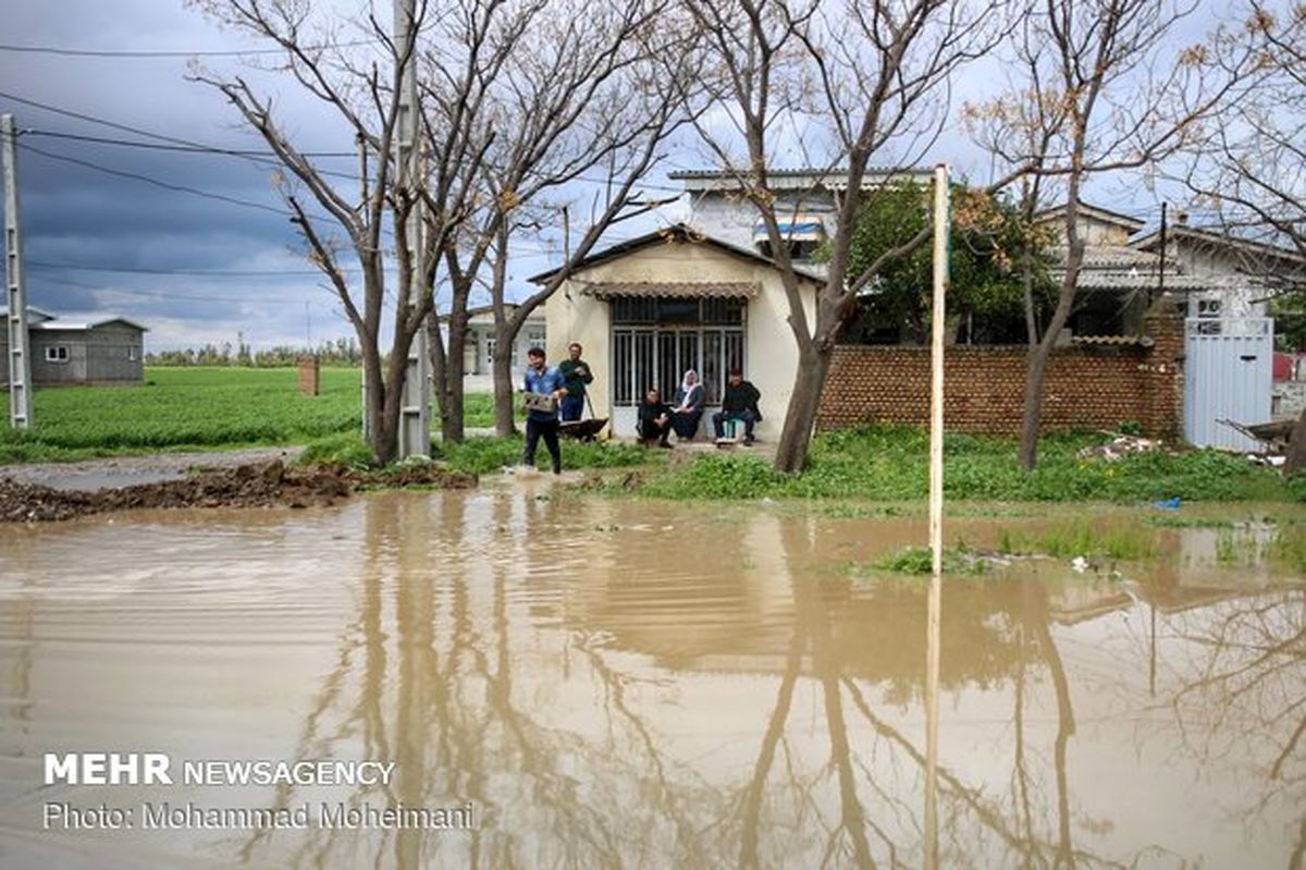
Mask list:
[[[1306,499],[1306,481],[1285,483],[1272,469],[1217,451],[1131,455],[1117,462],[1080,460],[1094,435],[1057,435],[1040,445],[1025,473],[1010,439],[953,434],[946,440],[949,499],[1002,502],[1117,502]],[[631,491],[629,482],[596,490]],[[750,453],[708,453],[644,475],[635,491],[669,499],[828,498],[908,500],[929,495],[929,436],[922,430],[867,427],[818,436],[806,472],[778,474]]]

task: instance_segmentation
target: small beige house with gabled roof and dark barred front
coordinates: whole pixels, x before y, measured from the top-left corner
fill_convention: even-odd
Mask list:
[[[798,270],[812,319],[821,280]],[[780,438],[798,349],[772,259],[683,225],[666,227],[585,257],[546,303],[545,319],[551,361],[563,359],[572,341],[585,347],[594,414],[613,421],[615,436],[635,434],[648,388],[670,401],[687,368],[707,387],[699,432],[709,435],[726,372],[738,367],[761,392],[756,436]]]

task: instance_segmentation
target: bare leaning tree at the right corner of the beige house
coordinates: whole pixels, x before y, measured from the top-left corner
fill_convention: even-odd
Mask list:
[[[795,472],[807,459],[835,340],[855,311],[858,291],[885,263],[929,238],[926,229],[862,274],[849,274],[849,239],[867,167],[875,158],[901,159],[901,149],[929,144],[944,116],[942,85],[960,64],[993,46],[1004,4],[684,0],[684,5],[709,57],[704,67],[712,71],[705,88],[713,111],[697,129],[756,208],[789,303],[798,370],[776,468]],[[846,192],[815,306],[803,298],[781,227],[793,205],[772,187],[773,169],[795,159]]]

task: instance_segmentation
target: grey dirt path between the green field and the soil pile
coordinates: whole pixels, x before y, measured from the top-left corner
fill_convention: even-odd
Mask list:
[[[255,447],[242,451],[202,453],[155,453],[151,456],[111,456],[80,462],[33,462],[0,465],[0,479],[44,486],[67,492],[94,492],[140,483],[180,481],[196,469],[231,469],[281,460],[294,462],[303,447]]]

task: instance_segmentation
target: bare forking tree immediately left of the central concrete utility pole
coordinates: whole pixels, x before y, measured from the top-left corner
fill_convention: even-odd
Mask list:
[[[274,111],[273,99],[256,93],[244,77],[209,71],[196,74],[197,81],[231,101],[286,169],[283,195],[295,214],[294,223],[308,248],[308,259],[326,277],[358,336],[370,447],[375,461],[388,462],[397,445],[409,347],[431,311],[430,294],[409,293],[411,266],[417,259],[431,261],[431,251],[438,251],[462,219],[458,208],[439,212],[427,251],[410,251],[404,230],[415,200],[409,191],[394,187],[400,80],[404,69],[415,63],[421,27],[431,24],[427,5],[419,5],[415,26],[407,29],[401,43],[372,14],[350,24],[306,0],[195,0],[195,5],[222,25],[276,44],[283,54],[273,69],[325,106],[358,142],[360,178],[340,182],[338,174],[324,170],[293,140],[286,119]],[[451,16],[445,12],[440,17]],[[360,34],[353,33],[359,30]],[[466,125],[448,131],[444,157],[458,165],[461,172],[451,183],[447,202],[465,199],[483,153],[470,132]],[[307,191],[312,204],[325,214],[310,210],[312,206],[300,201],[299,191]],[[388,235],[393,236],[393,248],[387,244]],[[360,287],[346,277],[345,252],[358,263]],[[387,289],[387,264],[392,257],[398,272],[393,294]],[[390,297],[393,337],[383,357],[387,297]]]

